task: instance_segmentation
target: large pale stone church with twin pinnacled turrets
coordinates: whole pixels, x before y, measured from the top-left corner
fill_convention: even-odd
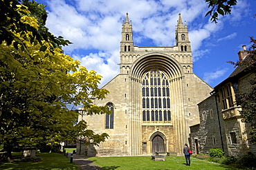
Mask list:
[[[95,105],[107,105],[112,114],[83,117],[95,133],[109,134],[99,146],[86,148],[89,156],[183,154],[189,127],[199,123],[196,104],[210,96],[212,87],[193,73],[189,32],[181,14],[175,34],[173,47],[138,47],[126,15],[120,74],[104,85],[107,98],[94,100]],[[77,143],[77,153],[83,149]]]

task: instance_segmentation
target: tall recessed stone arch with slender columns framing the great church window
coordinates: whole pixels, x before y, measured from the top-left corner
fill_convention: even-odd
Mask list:
[[[130,95],[129,95],[129,112],[130,114],[130,148],[131,155],[142,154],[142,92],[141,92],[141,80],[145,73],[150,70],[161,70],[165,72],[165,75],[170,80],[170,90],[175,93],[170,94],[172,98],[172,106],[183,105],[183,68],[176,59],[172,58],[167,54],[162,53],[149,53],[140,56],[133,65],[129,73],[130,81]],[[171,108],[172,109],[172,108]],[[177,116],[183,116],[184,107],[174,107],[174,112]],[[185,124],[180,120],[185,118],[177,119],[173,117],[172,124],[174,129],[175,142],[183,143],[182,133],[179,128],[185,127]],[[181,126],[181,127],[180,127]],[[178,145],[182,147],[181,145]]]

